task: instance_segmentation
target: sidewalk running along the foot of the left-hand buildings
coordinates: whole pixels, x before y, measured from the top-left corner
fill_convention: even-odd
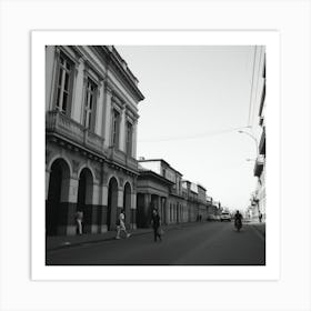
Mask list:
[[[200,225],[207,222],[188,222],[188,223],[174,223],[169,225],[163,225],[164,231],[169,231],[177,228],[189,227],[189,225]],[[141,234],[152,234],[152,228],[129,230],[131,237]],[[104,233],[89,233],[82,235],[53,235],[47,237],[46,245],[47,251],[53,251],[63,248],[72,248],[82,244],[99,243],[102,241],[111,241],[116,239],[117,231],[108,231]],[[121,233],[122,234],[122,233]],[[130,238],[131,239],[131,238]]]

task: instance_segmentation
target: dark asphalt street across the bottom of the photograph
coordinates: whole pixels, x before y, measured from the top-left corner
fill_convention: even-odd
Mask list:
[[[265,238],[252,224],[237,232],[233,222],[193,223],[167,230],[162,242],[146,233],[48,251],[47,264],[262,265]]]

